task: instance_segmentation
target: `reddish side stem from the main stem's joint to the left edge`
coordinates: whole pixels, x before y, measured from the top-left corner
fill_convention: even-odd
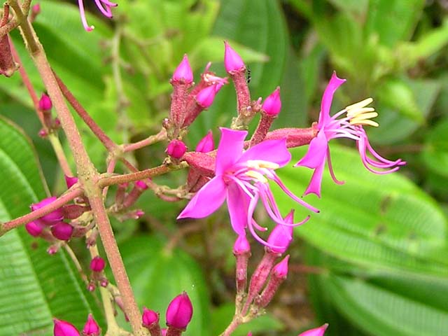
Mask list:
[[[29,214],[26,214],[24,216],[21,216],[19,218],[13,219],[13,221],[9,221],[6,223],[3,223],[1,225],[0,229],[0,236],[4,235],[9,230],[13,230],[13,228],[17,228],[20,225],[32,222],[36,220],[37,218],[41,218],[42,216],[45,216],[46,214],[50,214],[50,212],[55,211],[56,209],[59,209],[64,204],[70,202],[74,198],[83,195],[83,190],[80,188],[74,188],[74,186],[64,193],[62,196],[57,198],[54,202],[51,202],[48,205],[45,205],[45,207],[41,207],[40,209],[37,209],[36,211],[32,211]]]

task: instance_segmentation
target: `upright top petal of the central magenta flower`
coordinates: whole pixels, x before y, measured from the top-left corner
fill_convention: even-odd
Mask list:
[[[216,175],[222,175],[226,169],[232,167],[243,153],[246,131],[235,131],[221,127],[221,141],[216,153]]]

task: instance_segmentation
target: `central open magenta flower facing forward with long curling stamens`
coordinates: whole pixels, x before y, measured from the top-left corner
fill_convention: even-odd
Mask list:
[[[253,211],[261,200],[267,214],[276,223],[286,226],[268,181],[274,181],[286,195],[311,211],[318,212],[306,202],[300,200],[283,185],[275,169],[283,167],[290,161],[291,155],[286,149],[286,139],[262,141],[244,151],[246,131],[221,128],[221,141],[216,154],[215,177],[208,181],[187,204],[178,218],[204,218],[212,214],[227,201],[230,222],[238,235],[245,235],[248,228],[258,241],[270,246],[255,232],[265,231],[253,220]]]

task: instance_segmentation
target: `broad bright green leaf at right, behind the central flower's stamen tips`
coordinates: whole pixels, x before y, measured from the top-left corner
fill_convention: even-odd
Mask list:
[[[304,199],[321,212],[311,215],[297,234],[356,265],[448,277],[447,219],[435,202],[400,174],[367,172],[354,151],[337,146],[331,151],[335,174],[345,184],[335,184],[325,172],[321,200],[315,202],[313,195]],[[294,153],[298,160],[304,150]],[[286,167],[280,174],[288,188],[302,195],[310,169]],[[274,193],[286,214],[293,202]],[[297,209],[297,220],[307,212]]]

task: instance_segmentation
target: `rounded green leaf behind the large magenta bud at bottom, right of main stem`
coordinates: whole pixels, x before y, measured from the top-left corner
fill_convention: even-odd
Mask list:
[[[200,266],[179,249],[168,251],[158,237],[134,237],[120,245],[139,306],[160,311],[185,290],[193,303],[193,319],[185,335],[209,335],[209,296]],[[161,318],[162,323],[163,318]]]

